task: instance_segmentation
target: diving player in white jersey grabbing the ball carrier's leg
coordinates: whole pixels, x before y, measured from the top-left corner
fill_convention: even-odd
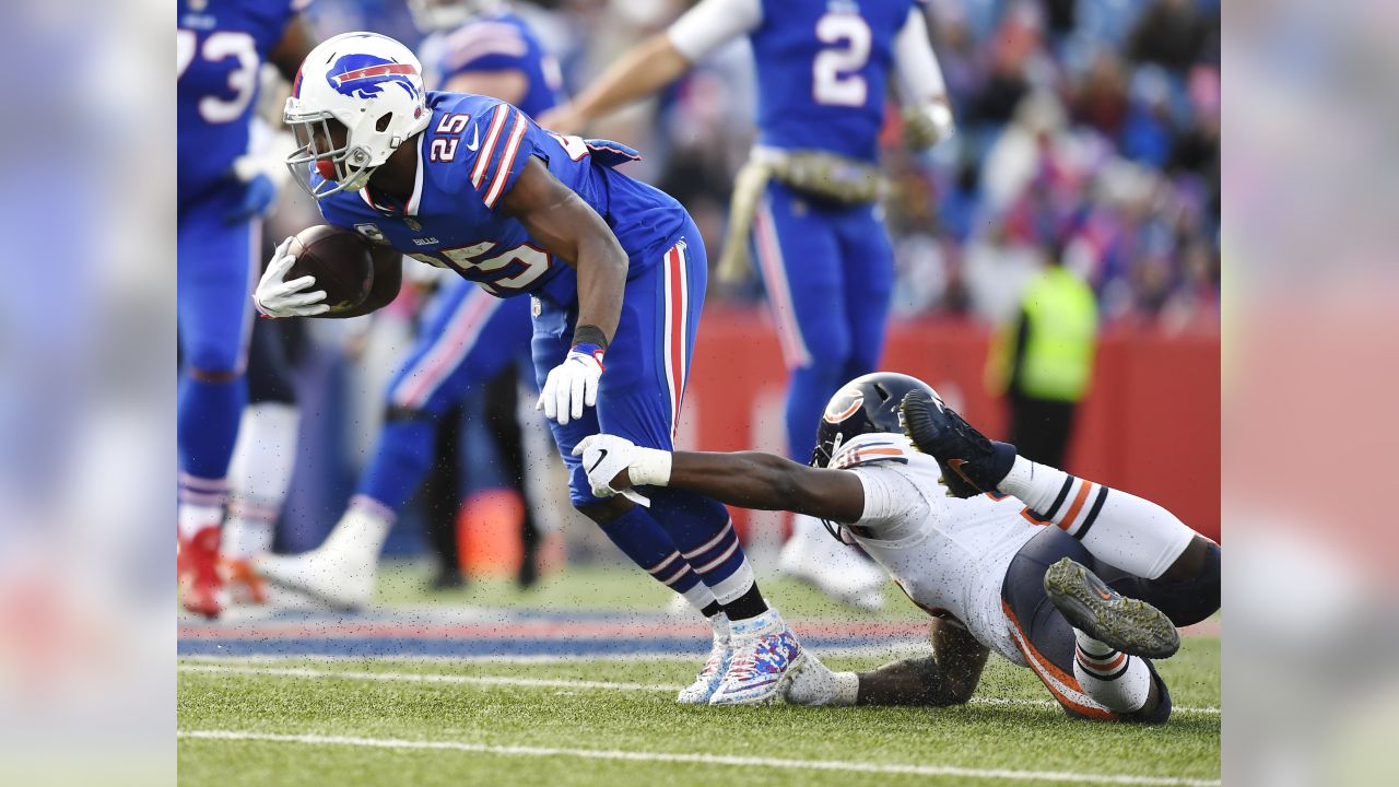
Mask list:
[[[1149,500],[1017,457],[901,374],[837,392],[813,466],[607,434],[578,452],[599,494],[680,487],[825,520],[936,618],[932,658],[853,674],[807,653],[789,676],[792,703],[964,703],[996,651],[1032,669],[1070,717],[1164,723],[1171,696],[1150,660],[1172,655],[1177,626],[1220,605],[1219,545]]]

